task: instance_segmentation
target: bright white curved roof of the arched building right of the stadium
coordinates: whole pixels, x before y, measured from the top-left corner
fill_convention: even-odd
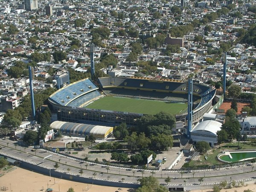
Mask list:
[[[200,122],[191,132],[209,131],[217,136],[217,131],[221,130],[221,123],[213,120]]]

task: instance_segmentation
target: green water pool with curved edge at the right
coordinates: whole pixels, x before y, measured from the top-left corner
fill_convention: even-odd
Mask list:
[[[220,157],[221,160],[228,161],[228,162],[236,162],[244,159],[249,158],[256,158],[256,151],[246,151],[246,152],[230,152],[230,155],[232,156],[232,159],[229,155],[223,155]]]

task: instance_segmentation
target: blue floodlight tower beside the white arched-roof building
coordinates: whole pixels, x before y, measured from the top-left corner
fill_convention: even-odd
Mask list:
[[[193,122],[193,80],[189,79],[188,86],[188,127],[187,127],[187,137],[190,138],[190,133],[192,131],[192,122]]]

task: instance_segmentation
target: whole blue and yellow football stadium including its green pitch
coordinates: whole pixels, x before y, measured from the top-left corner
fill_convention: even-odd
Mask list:
[[[166,111],[186,121],[188,83],[170,79],[103,77],[98,85],[82,79],[49,96],[57,119],[114,126],[136,125],[140,116]],[[212,107],[215,89],[193,83],[193,122]]]

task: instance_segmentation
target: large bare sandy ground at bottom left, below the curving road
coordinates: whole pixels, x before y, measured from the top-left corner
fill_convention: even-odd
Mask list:
[[[107,187],[92,185],[87,183],[78,183],[60,178],[41,175],[26,169],[18,168],[6,173],[0,177],[1,187],[8,187],[7,192],[45,192],[47,188],[52,188],[53,192],[67,192],[70,187],[73,187],[75,192],[116,192],[117,187]],[[43,189],[43,190],[42,190]],[[122,188],[122,192],[128,192],[127,188]],[[129,190],[131,191],[131,190]]]

